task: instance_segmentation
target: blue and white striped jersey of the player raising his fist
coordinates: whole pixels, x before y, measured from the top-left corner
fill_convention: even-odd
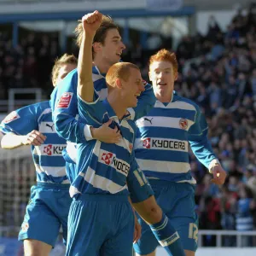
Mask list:
[[[78,160],[75,179],[70,194],[119,194],[129,195],[126,186],[131,161],[134,160],[132,150],[135,141],[135,122],[127,113],[119,120],[107,100],[87,104],[79,97],[79,118],[86,119],[88,125],[99,127],[113,119],[122,135],[119,143],[102,143],[92,140],[78,144]]]

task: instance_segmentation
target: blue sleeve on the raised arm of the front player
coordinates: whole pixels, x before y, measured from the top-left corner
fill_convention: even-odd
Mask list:
[[[100,101],[96,92],[94,95],[94,102],[85,102],[80,96],[78,96],[79,102],[79,119],[83,119],[88,125],[99,127],[102,125],[104,115],[107,114],[107,109]]]

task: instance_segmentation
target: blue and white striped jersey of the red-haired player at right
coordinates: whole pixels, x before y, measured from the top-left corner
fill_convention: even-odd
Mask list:
[[[137,127],[135,157],[148,178],[195,183],[189,166],[189,145],[207,168],[216,159],[200,108],[175,92],[168,104],[155,102],[148,116],[137,120]]]

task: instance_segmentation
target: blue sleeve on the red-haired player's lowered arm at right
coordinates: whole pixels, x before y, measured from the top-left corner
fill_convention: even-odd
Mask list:
[[[197,107],[195,124],[189,129],[189,144],[196,158],[200,160],[204,166],[209,168],[212,160],[216,160],[217,158],[213,153],[212,145],[208,140],[207,134],[207,120],[201,113],[200,108]]]

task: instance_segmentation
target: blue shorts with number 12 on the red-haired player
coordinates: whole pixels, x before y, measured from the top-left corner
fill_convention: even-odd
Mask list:
[[[195,213],[195,185],[159,180],[150,180],[150,183],[158,205],[177,230],[184,250],[195,252],[198,233],[198,218]],[[152,253],[159,246],[159,243],[142,218],[139,218],[139,223],[142,225],[142,236],[133,245],[134,250],[140,255]]]

